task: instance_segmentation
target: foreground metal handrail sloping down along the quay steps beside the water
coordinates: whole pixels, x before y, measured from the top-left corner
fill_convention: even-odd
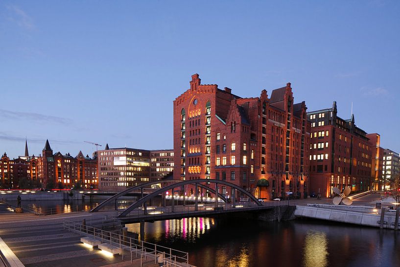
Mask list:
[[[155,243],[149,243],[140,241],[135,238],[123,236],[113,232],[105,231],[103,229],[95,228],[88,225],[83,225],[78,222],[63,220],[63,227],[69,231],[78,232],[87,236],[93,236],[94,238],[100,239],[102,243],[110,243],[111,245],[118,246],[122,249],[129,248],[131,251],[139,252],[141,255],[154,254],[157,259],[157,253],[164,252],[166,258],[174,257],[178,262],[188,264],[188,252],[173,249],[170,247],[158,245]],[[131,255],[132,256],[132,255]]]

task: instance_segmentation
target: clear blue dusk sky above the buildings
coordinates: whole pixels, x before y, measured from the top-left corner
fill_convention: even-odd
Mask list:
[[[400,152],[400,1],[0,0],[0,153],[173,148],[172,101],[202,84],[353,113]]]

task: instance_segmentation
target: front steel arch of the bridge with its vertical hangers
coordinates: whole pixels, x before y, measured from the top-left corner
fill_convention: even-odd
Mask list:
[[[172,190],[171,199],[174,200],[174,194],[173,194],[174,188],[182,187],[182,186],[185,186],[185,185],[194,185],[195,186],[195,190],[194,190],[194,192],[195,192],[195,207],[197,209],[197,202],[198,202],[198,189],[197,189],[197,187],[198,186],[204,187],[204,185],[202,185],[201,183],[213,183],[213,184],[215,184],[215,190],[212,190],[210,187],[205,186],[207,188],[207,190],[209,190],[211,192],[213,191],[212,192],[213,194],[215,194],[215,192],[218,192],[218,185],[221,184],[221,185],[229,186],[232,189],[237,190],[237,191],[249,196],[249,201],[253,200],[258,206],[262,206],[262,204],[259,202],[259,200],[256,197],[254,197],[252,194],[250,194],[249,192],[247,192],[243,188],[241,188],[241,187],[239,187],[239,186],[237,186],[235,184],[226,182],[226,181],[214,180],[214,179],[196,179],[196,180],[187,180],[187,181],[178,180],[178,181],[179,181],[178,183],[165,186],[163,188],[160,188],[160,189],[156,190],[155,192],[153,192],[151,194],[148,194],[146,196],[141,197],[138,201],[136,201],[135,203],[131,204],[121,214],[119,214],[118,218],[125,217],[133,209],[139,208],[143,204],[145,205],[147,200],[150,200],[153,197],[155,197],[155,196],[157,196],[159,194],[165,193],[166,191],[169,191],[169,190]],[[218,195],[220,195],[220,194],[218,194]],[[224,201],[226,201],[225,198],[224,198]],[[235,201],[235,198],[234,198],[234,201]],[[173,203],[174,203],[174,201],[172,201],[172,205],[173,205]],[[218,205],[218,197],[215,197],[215,205],[216,206]]]

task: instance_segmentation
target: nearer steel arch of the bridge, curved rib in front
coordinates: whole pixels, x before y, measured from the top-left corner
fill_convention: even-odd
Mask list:
[[[214,183],[214,184],[215,184],[215,187],[216,187],[217,185],[219,185],[219,184],[229,186],[229,187],[234,188],[235,190],[238,190],[239,192],[242,192],[243,194],[249,196],[249,199],[253,200],[255,203],[257,203],[257,205],[262,206],[262,204],[259,202],[259,200],[258,200],[256,197],[254,197],[252,194],[250,194],[249,192],[247,192],[247,191],[244,190],[243,188],[241,188],[241,187],[239,187],[239,186],[237,186],[237,185],[235,185],[235,184],[226,182],[226,181],[214,180],[214,179],[195,179],[195,180],[187,180],[187,181],[181,181],[181,180],[177,180],[177,181],[180,181],[180,182],[179,182],[179,183],[176,183],[176,184],[172,184],[172,185],[165,186],[165,187],[163,187],[163,188],[160,188],[160,189],[154,191],[154,192],[151,193],[151,194],[148,194],[148,195],[146,195],[146,196],[143,196],[141,199],[139,199],[138,201],[136,201],[135,203],[133,203],[133,204],[131,204],[129,207],[127,207],[120,215],[118,215],[118,217],[124,217],[124,216],[126,216],[126,215],[129,214],[133,209],[139,208],[139,207],[140,207],[142,204],[144,204],[147,200],[150,200],[150,199],[152,199],[153,197],[155,197],[155,196],[157,196],[157,195],[159,195],[159,194],[161,194],[161,193],[164,193],[164,192],[166,192],[166,191],[168,191],[168,190],[174,189],[174,188],[176,188],[176,187],[181,187],[181,186],[189,185],[189,184],[201,186],[201,183]],[[208,190],[209,190],[209,189],[208,189]],[[214,191],[214,194],[215,194],[215,191]]]

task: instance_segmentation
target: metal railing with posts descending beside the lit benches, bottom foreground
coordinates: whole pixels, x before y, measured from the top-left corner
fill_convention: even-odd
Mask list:
[[[101,243],[109,243],[112,246],[121,248],[122,258],[124,257],[124,251],[128,250],[131,255],[131,262],[133,260],[133,253],[136,253],[136,256],[139,254],[141,256],[141,261],[142,257],[145,259],[147,259],[147,257],[152,259],[154,258],[155,263],[157,263],[160,253],[164,253],[163,261],[165,264],[168,264],[167,266],[188,266],[189,253],[185,251],[176,250],[154,243],[148,243],[145,241],[139,241],[135,238],[123,236],[69,220],[63,220],[63,227],[64,229],[72,232],[94,237],[94,239],[99,240]]]

